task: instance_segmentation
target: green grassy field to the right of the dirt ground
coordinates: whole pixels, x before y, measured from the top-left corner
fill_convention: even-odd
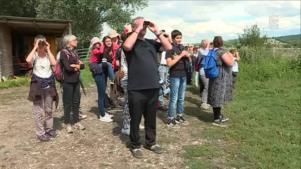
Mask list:
[[[205,143],[183,155],[191,169],[300,169],[300,72],[281,69],[282,62],[240,65],[234,102],[222,108],[229,126],[208,124],[197,134]],[[206,119],[199,112],[193,116]]]

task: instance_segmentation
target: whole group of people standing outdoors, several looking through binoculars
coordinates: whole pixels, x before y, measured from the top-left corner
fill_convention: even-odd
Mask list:
[[[155,40],[144,38],[147,29],[155,35]],[[203,40],[201,49],[189,49],[181,44],[182,37],[182,33],[178,30],[172,31],[169,36],[164,30],[159,31],[154,23],[146,21],[143,17],[136,17],[121,35],[111,30],[102,40],[98,37],[91,40],[92,54],[89,66],[97,84],[99,120],[108,123],[113,121],[113,115],[105,111],[104,104],[109,78],[113,108],[123,110],[121,133],[129,135],[131,152],[136,158],[143,158],[139,128],[144,128],[146,132],[144,147],[158,154],[163,152],[155,142],[156,110],[168,111],[166,122],[168,127],[180,128],[180,125],[189,125],[183,115],[187,77],[192,65],[200,65],[197,72],[200,73],[202,108],[208,110],[212,106],[213,124],[227,126],[225,122],[228,118],[221,115],[221,107],[233,99],[232,66],[235,63],[233,56],[238,61],[238,53],[226,52],[222,48],[222,38],[215,37],[212,50],[216,50],[220,73],[216,79],[206,79],[202,65],[203,58],[209,51],[210,42]],[[27,62],[33,64],[28,99],[34,102],[36,133],[41,141],[58,137],[53,131],[52,103],[55,101],[57,107],[58,93],[53,76],[55,73],[51,66],[60,65],[62,71],[61,88],[66,132],[85,129],[80,123],[80,119],[86,118],[80,111],[82,81],[80,70],[84,69],[85,65],[74,50],[77,43],[74,35],[66,35],[60,42],[59,53],[55,59],[45,37],[37,36],[34,49],[26,58]],[[198,59],[194,59],[196,55]],[[168,107],[164,105],[163,97],[167,93],[170,93]],[[117,98],[120,95],[125,99],[123,106],[118,104]],[[46,113],[46,127],[43,126],[43,112]],[[70,121],[71,115],[73,126]],[[144,126],[140,124],[142,116],[145,119]]]

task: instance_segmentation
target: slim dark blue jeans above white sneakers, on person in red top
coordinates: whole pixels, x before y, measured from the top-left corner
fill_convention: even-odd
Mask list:
[[[104,97],[105,97],[105,89],[107,83],[107,74],[102,72],[101,75],[96,75],[94,77],[94,80],[97,85],[98,108],[100,110],[100,116],[103,117],[105,115]]]

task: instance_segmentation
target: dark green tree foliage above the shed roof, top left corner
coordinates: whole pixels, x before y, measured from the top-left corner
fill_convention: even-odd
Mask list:
[[[36,0],[0,0],[0,15],[36,17]]]

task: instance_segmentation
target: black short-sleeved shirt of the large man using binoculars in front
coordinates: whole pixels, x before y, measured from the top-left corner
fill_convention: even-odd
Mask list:
[[[156,53],[161,43],[137,39],[131,51],[124,51],[128,63],[128,90],[159,88]]]

